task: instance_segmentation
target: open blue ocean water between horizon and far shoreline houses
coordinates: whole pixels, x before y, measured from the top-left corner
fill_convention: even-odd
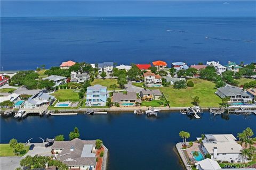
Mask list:
[[[256,18],[1,18],[1,70],[67,60],[256,62]]]

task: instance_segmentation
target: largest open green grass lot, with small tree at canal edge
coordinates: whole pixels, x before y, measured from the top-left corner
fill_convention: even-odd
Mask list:
[[[214,94],[217,89],[215,84],[201,79],[190,79],[194,82],[194,87],[187,89],[173,89],[173,87],[150,88],[161,90],[166,99],[170,101],[170,107],[188,107],[193,106],[193,99],[198,96],[201,100],[199,106],[219,107],[221,98]]]

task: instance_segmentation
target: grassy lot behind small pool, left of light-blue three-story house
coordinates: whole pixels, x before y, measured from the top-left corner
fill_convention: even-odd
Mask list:
[[[78,92],[75,92],[74,89],[59,89],[51,95],[60,101],[79,101]]]

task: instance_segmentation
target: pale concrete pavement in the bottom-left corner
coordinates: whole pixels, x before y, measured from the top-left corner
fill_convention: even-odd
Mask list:
[[[18,156],[6,156],[0,157],[0,169],[13,170],[20,167],[20,160],[22,157]]]

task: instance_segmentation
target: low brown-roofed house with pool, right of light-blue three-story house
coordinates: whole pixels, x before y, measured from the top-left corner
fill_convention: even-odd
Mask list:
[[[120,106],[134,106],[137,102],[141,103],[141,99],[137,98],[137,93],[131,91],[127,91],[127,94],[114,92],[111,101],[118,103]]]

